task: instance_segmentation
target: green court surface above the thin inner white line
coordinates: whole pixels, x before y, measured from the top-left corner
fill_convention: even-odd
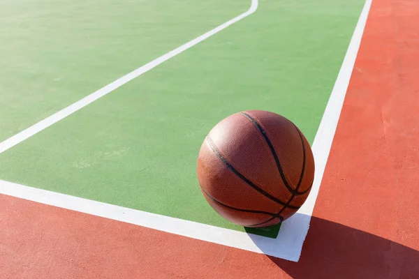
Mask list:
[[[0,1],[0,142],[244,13],[250,2]]]

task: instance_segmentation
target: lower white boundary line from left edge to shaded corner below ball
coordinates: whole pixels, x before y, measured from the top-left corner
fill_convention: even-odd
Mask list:
[[[254,231],[253,234],[247,234],[245,232],[237,232],[233,229],[225,229],[188,220],[179,220],[145,211],[95,202],[90,199],[53,193],[38,188],[30,188],[8,181],[0,181],[0,194],[292,261],[298,260],[302,241],[304,241],[304,239],[300,238],[301,233],[298,231],[300,227],[290,227],[286,225],[287,223],[283,224],[284,229],[281,229],[278,237],[274,239],[272,237],[260,236],[260,234],[272,234],[272,232],[265,230],[260,230],[261,232],[258,232],[259,235],[254,234]],[[309,216],[302,216],[302,220],[304,218],[307,219],[307,217]]]

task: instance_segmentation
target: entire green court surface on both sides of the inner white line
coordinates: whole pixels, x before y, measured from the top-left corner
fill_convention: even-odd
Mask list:
[[[242,110],[282,114],[312,142],[363,3],[260,1],[253,15],[1,153],[0,179],[244,230],[200,193],[200,144]],[[0,141],[249,6],[1,2]]]

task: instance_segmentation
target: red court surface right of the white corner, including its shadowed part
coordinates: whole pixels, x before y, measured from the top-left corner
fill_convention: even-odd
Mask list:
[[[293,278],[419,276],[418,18],[373,1],[302,257],[272,259]]]

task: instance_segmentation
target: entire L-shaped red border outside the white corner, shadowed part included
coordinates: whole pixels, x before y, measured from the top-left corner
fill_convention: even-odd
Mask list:
[[[374,0],[300,262],[0,195],[0,278],[419,278],[418,18]]]

